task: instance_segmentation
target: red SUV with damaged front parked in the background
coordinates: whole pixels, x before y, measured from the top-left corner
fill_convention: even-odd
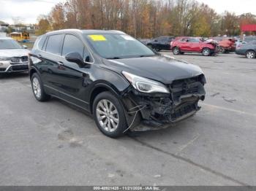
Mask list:
[[[217,52],[217,42],[213,40],[203,41],[198,37],[178,37],[170,43],[174,55],[184,52],[198,52],[205,56],[213,55]]]

